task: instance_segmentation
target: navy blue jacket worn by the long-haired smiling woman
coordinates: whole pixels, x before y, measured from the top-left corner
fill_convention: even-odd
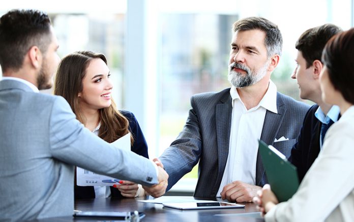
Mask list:
[[[149,154],[147,154],[147,144],[145,141],[145,137],[142,134],[141,128],[134,114],[126,110],[120,110],[120,112],[128,119],[129,131],[132,133],[134,138],[134,143],[133,146],[131,147],[131,150],[134,153],[149,159]],[[114,187],[110,187],[110,190],[111,190],[111,197],[124,198],[118,189]],[[74,194],[75,194],[75,200],[91,199],[91,198],[95,198],[95,189],[93,186],[77,186],[75,184]]]

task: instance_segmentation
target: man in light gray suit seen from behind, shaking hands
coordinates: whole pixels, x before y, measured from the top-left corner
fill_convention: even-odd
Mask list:
[[[101,140],[64,98],[39,93],[52,86],[57,48],[46,14],[1,17],[0,220],[72,215],[74,165],[142,184],[155,197],[167,187],[161,167]]]

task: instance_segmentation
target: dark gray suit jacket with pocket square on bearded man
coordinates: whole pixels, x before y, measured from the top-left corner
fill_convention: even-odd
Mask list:
[[[199,161],[194,196],[216,197],[229,150],[232,113],[230,89],[194,95],[191,105],[192,109],[182,132],[160,157],[169,174],[168,189]],[[277,93],[277,109],[278,114],[267,110],[260,139],[288,157],[309,106]],[[289,140],[274,143],[275,138],[279,139],[281,136]],[[256,185],[263,186],[265,183],[267,178],[258,153]]]

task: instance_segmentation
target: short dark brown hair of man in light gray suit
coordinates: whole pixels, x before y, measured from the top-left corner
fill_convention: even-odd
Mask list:
[[[0,18],[0,65],[3,72],[22,67],[34,45],[44,54],[51,42],[50,19],[37,10],[11,10]]]

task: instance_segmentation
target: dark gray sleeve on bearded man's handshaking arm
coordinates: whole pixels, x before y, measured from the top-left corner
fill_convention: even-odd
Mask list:
[[[169,175],[167,190],[193,169],[201,155],[202,142],[194,96],[191,98],[191,106],[182,132],[160,156]]]

